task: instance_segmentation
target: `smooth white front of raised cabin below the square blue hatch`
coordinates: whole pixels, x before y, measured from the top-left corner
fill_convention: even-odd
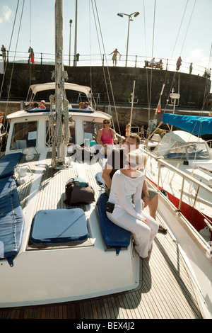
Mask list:
[[[90,247],[22,252],[13,267],[1,263],[0,275],[0,307],[60,303],[136,288],[139,256],[131,246],[117,256],[95,239]]]

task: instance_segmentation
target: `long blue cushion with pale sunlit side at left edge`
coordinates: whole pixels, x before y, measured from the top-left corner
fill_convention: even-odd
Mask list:
[[[24,218],[13,176],[0,179],[0,259],[20,251]]]

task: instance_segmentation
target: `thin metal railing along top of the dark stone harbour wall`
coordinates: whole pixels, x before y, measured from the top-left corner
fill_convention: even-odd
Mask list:
[[[54,54],[52,53],[42,53],[35,52],[34,54],[35,64],[54,64]],[[2,57],[0,55],[0,61]],[[161,58],[160,58],[161,59]],[[159,62],[159,58],[155,60]],[[137,68],[146,68],[147,62],[150,62],[151,57],[144,57],[140,55],[128,55],[127,57],[127,67],[137,67]],[[163,70],[175,71],[176,70],[176,62],[177,60],[171,59],[161,59],[163,62]],[[20,62],[20,63],[28,63],[28,52],[13,52],[7,51],[7,62]],[[119,58],[117,56],[117,67],[125,67],[126,56],[122,55]],[[76,57],[73,55],[64,55],[64,65],[69,66],[112,66],[112,56],[111,55],[79,55]],[[179,69],[179,72],[189,73],[190,62],[183,62],[182,66]],[[199,76],[206,76],[206,68],[203,66],[199,66],[199,64],[192,64],[192,74]],[[155,69],[155,68],[154,68]],[[158,69],[160,70],[160,69]]]

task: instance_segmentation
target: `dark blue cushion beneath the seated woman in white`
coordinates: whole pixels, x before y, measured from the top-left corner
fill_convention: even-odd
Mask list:
[[[107,247],[115,247],[117,254],[121,247],[128,247],[131,239],[131,232],[115,225],[107,218],[105,206],[108,201],[106,193],[100,194],[97,202],[98,215],[100,218],[100,226],[102,237]]]

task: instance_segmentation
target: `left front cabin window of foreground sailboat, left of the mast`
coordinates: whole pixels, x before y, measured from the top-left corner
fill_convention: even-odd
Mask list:
[[[11,139],[11,150],[36,147],[37,145],[37,121],[25,121],[15,123]]]

